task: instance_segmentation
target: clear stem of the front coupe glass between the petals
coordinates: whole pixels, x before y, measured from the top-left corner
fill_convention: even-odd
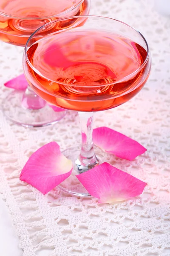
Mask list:
[[[78,171],[82,173],[97,166],[99,160],[94,153],[92,138],[94,113],[79,112],[79,119],[82,129],[82,146],[76,165]]]

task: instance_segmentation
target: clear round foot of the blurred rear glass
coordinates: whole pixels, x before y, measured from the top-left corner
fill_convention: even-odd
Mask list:
[[[14,90],[3,101],[3,113],[17,125],[42,127],[62,119],[67,111],[55,112],[48,104],[40,109],[27,109],[22,105],[24,91]]]

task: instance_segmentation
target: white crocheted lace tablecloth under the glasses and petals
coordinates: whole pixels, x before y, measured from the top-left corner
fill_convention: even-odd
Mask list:
[[[45,143],[57,141],[61,149],[80,143],[77,113],[35,129],[14,125],[0,112],[2,256],[170,256],[170,17],[156,12],[152,0],[92,0],[91,14],[129,23],[150,45],[152,71],[142,91],[95,116],[95,127],[113,128],[147,148],[132,162],[115,159],[119,169],[148,186],[138,198],[116,204],[71,197],[57,188],[44,196],[20,182],[21,169]],[[3,83],[22,73],[22,52],[0,43],[0,100],[9,92]]]

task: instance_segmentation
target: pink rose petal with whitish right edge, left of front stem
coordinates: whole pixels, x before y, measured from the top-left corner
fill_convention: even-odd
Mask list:
[[[28,159],[20,180],[23,180],[44,195],[71,175],[72,163],[59,150],[56,142],[48,143]]]

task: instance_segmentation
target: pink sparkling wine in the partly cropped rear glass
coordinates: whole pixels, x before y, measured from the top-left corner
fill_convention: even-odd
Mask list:
[[[89,0],[1,0],[0,12],[14,16],[0,14],[0,40],[25,46],[36,29],[52,20],[88,15]]]

